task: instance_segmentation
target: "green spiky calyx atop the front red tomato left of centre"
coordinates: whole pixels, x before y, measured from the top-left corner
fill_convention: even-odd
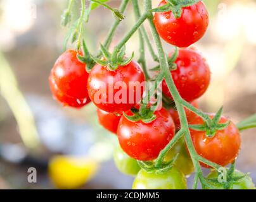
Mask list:
[[[113,58],[112,54],[102,44],[101,44],[101,52],[105,59],[102,60],[92,55],[91,55],[91,58],[101,66],[106,66],[110,71],[115,71],[116,69],[118,69],[118,66],[125,66],[129,64],[134,57],[134,52],[132,52],[131,57],[129,57],[128,59],[125,58],[125,45],[120,50],[118,50],[115,61],[113,61],[112,59]]]

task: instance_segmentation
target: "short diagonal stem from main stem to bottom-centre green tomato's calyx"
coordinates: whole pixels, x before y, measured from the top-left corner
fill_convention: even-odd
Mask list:
[[[169,142],[167,146],[160,152],[158,158],[156,160],[156,167],[160,167],[163,163],[165,155],[172,148],[172,146],[176,145],[176,143],[184,136],[184,130],[181,129],[175,136],[172,138],[172,141]]]

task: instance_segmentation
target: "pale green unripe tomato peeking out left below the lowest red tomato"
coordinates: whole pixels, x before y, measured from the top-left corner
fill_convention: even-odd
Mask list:
[[[141,167],[139,167],[137,160],[129,157],[123,150],[118,146],[114,151],[114,161],[120,172],[126,175],[135,176],[138,174]]]

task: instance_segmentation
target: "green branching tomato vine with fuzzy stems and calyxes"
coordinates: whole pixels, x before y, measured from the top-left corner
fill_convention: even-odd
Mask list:
[[[65,10],[63,14],[63,25],[68,25],[71,18],[71,7],[73,4],[73,0],[69,1],[68,8]],[[144,0],[144,13],[141,14],[140,8],[139,8],[139,1],[138,0],[131,0],[132,6],[134,8],[134,15],[136,16],[136,23],[131,28],[131,30],[126,33],[125,37],[120,40],[120,42],[115,46],[113,49],[112,54],[108,52],[108,49],[110,47],[110,44],[112,43],[113,37],[115,35],[115,31],[117,30],[118,25],[120,24],[120,21],[125,18],[124,13],[125,9],[127,8],[127,5],[129,3],[129,0],[122,0],[122,3],[120,4],[119,9],[114,9],[110,6],[108,6],[105,2],[106,1],[100,1],[100,0],[91,0],[91,5],[94,3],[93,6],[89,6],[89,8],[86,9],[85,0],[81,0],[81,15],[80,18],[77,20],[77,23],[75,24],[75,30],[72,37],[72,42],[77,42],[77,50],[82,49],[84,50],[84,55],[78,56],[78,59],[80,61],[87,64],[87,71],[90,72],[91,69],[95,66],[96,63],[101,64],[103,67],[108,67],[108,71],[106,71],[106,74],[109,73],[109,71],[116,71],[120,68],[120,66],[128,65],[132,61],[132,57],[134,56],[132,54],[129,59],[125,57],[125,44],[131,39],[132,35],[134,35],[135,32],[139,32],[139,59],[138,62],[141,64],[141,67],[144,72],[144,76],[147,81],[156,81],[158,83],[161,83],[162,81],[165,81],[169,92],[172,96],[171,102],[172,105],[175,104],[177,113],[179,114],[179,121],[181,124],[181,128],[177,131],[174,138],[169,141],[169,143],[163,148],[163,150],[160,151],[158,157],[153,162],[143,162],[138,161],[139,165],[142,167],[142,169],[146,170],[147,172],[168,172],[168,170],[172,169],[173,164],[177,158],[177,156],[171,160],[170,162],[165,162],[165,157],[167,156],[167,153],[173,148],[174,145],[176,145],[181,139],[184,139],[186,142],[186,146],[189,151],[189,155],[191,157],[191,160],[193,162],[193,165],[195,167],[195,180],[193,184],[193,189],[196,189],[198,187],[198,182],[201,182],[203,188],[212,188],[214,189],[214,181],[211,181],[207,179],[203,175],[201,164],[205,164],[208,167],[211,167],[212,169],[217,170],[217,172],[220,169],[227,170],[226,168],[222,167],[221,165],[218,165],[217,163],[211,162],[210,160],[204,158],[201,154],[198,154],[195,148],[195,144],[193,143],[193,138],[191,138],[191,129],[196,131],[201,131],[206,134],[207,138],[213,138],[215,135],[217,135],[218,131],[222,131],[226,129],[231,122],[222,122],[220,123],[221,116],[222,116],[222,108],[214,115],[209,116],[208,114],[202,112],[202,110],[197,109],[194,105],[187,102],[184,98],[181,97],[181,93],[177,89],[177,86],[174,82],[174,79],[172,77],[171,71],[174,69],[177,69],[177,64],[175,63],[177,56],[178,56],[178,50],[176,47],[176,51],[172,55],[172,57],[167,56],[165,53],[165,50],[163,49],[162,41],[161,41],[161,34],[158,32],[157,26],[155,24],[153,13],[164,13],[164,12],[172,12],[174,14],[174,17],[179,19],[182,15],[182,9],[188,8],[189,6],[193,6],[195,4],[202,4],[202,1],[198,0],[167,0],[163,6],[160,6],[159,8],[152,8],[152,2],[151,0]],[[96,5],[96,6],[95,6]],[[83,31],[84,31],[84,24],[87,22],[89,18],[89,13],[93,10],[93,8],[96,8],[97,6],[104,6],[107,9],[110,9],[112,11],[113,15],[115,16],[116,20],[112,25],[112,28],[110,28],[110,32],[108,33],[108,36],[106,37],[105,42],[103,45],[101,45],[101,52],[99,52],[96,56],[92,56],[89,53],[89,50],[86,47],[86,43],[83,39]],[[203,4],[202,4],[203,5]],[[157,47],[157,53],[155,52],[153,45],[151,44],[150,37],[148,33],[146,32],[146,29],[144,28],[144,21],[148,20],[150,25],[151,34],[153,36],[153,40],[155,42],[155,46]],[[208,25],[208,16],[207,20],[205,20],[205,25]],[[205,32],[205,30],[203,30]],[[197,32],[195,32],[197,33]],[[195,34],[193,33],[193,34]],[[194,35],[195,37],[195,35]],[[197,37],[199,40],[200,37]],[[83,41],[83,42],[82,42]],[[195,41],[193,41],[195,42]],[[156,78],[150,78],[150,74],[148,73],[148,68],[146,64],[146,56],[145,56],[145,50],[146,45],[148,47],[148,50],[150,51],[151,57],[154,61],[157,61],[159,65],[155,68],[153,68],[154,71],[158,71],[158,74]],[[104,56],[104,60],[101,60],[101,57]],[[101,67],[101,69],[103,68]],[[98,66],[98,69],[100,67]],[[103,70],[102,70],[103,71]],[[89,78],[91,78],[89,76]],[[153,92],[157,90],[158,85],[153,86]],[[146,95],[151,97],[150,95]],[[169,98],[163,97],[163,102],[167,102],[167,104],[170,100]],[[106,105],[105,105],[106,107]],[[114,107],[113,107],[114,108]],[[116,109],[112,109],[116,110]],[[188,119],[186,116],[186,110],[189,110],[196,114],[196,116],[200,117],[203,120],[203,124],[200,125],[191,125],[188,123]],[[128,119],[128,121],[139,121],[141,126],[143,124],[148,124],[152,121],[155,121],[157,119],[157,116],[155,114],[148,112],[146,105],[141,105],[141,109],[133,108],[132,112],[134,113],[134,116],[127,116],[124,113],[124,119]],[[108,115],[109,116],[109,115]],[[114,116],[115,119],[118,119]],[[244,130],[248,128],[253,128],[256,126],[255,122],[255,116],[251,117],[250,119],[247,119],[246,121],[240,122],[238,124],[238,129]],[[122,118],[121,118],[122,120]],[[146,120],[146,121],[145,121]],[[105,128],[108,128],[105,126]],[[109,129],[110,131],[117,131],[116,126],[114,129]],[[118,132],[117,132],[118,133]],[[234,180],[233,172],[234,172],[234,163],[231,165],[231,168],[227,170],[229,173],[229,179],[230,183],[227,183],[225,186],[226,188],[231,188],[231,181],[232,183]],[[239,179],[241,180],[242,177],[240,176]]]

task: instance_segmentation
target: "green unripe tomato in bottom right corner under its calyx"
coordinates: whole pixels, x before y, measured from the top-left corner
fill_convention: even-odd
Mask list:
[[[240,172],[239,170],[234,171],[234,177],[242,177],[243,172]],[[207,178],[208,179],[218,179],[219,174],[216,171],[211,172]],[[216,189],[224,189],[223,186],[214,186]],[[253,184],[252,178],[248,175],[245,176],[245,178],[241,179],[238,182],[234,182],[232,189],[255,189],[255,185]]]

